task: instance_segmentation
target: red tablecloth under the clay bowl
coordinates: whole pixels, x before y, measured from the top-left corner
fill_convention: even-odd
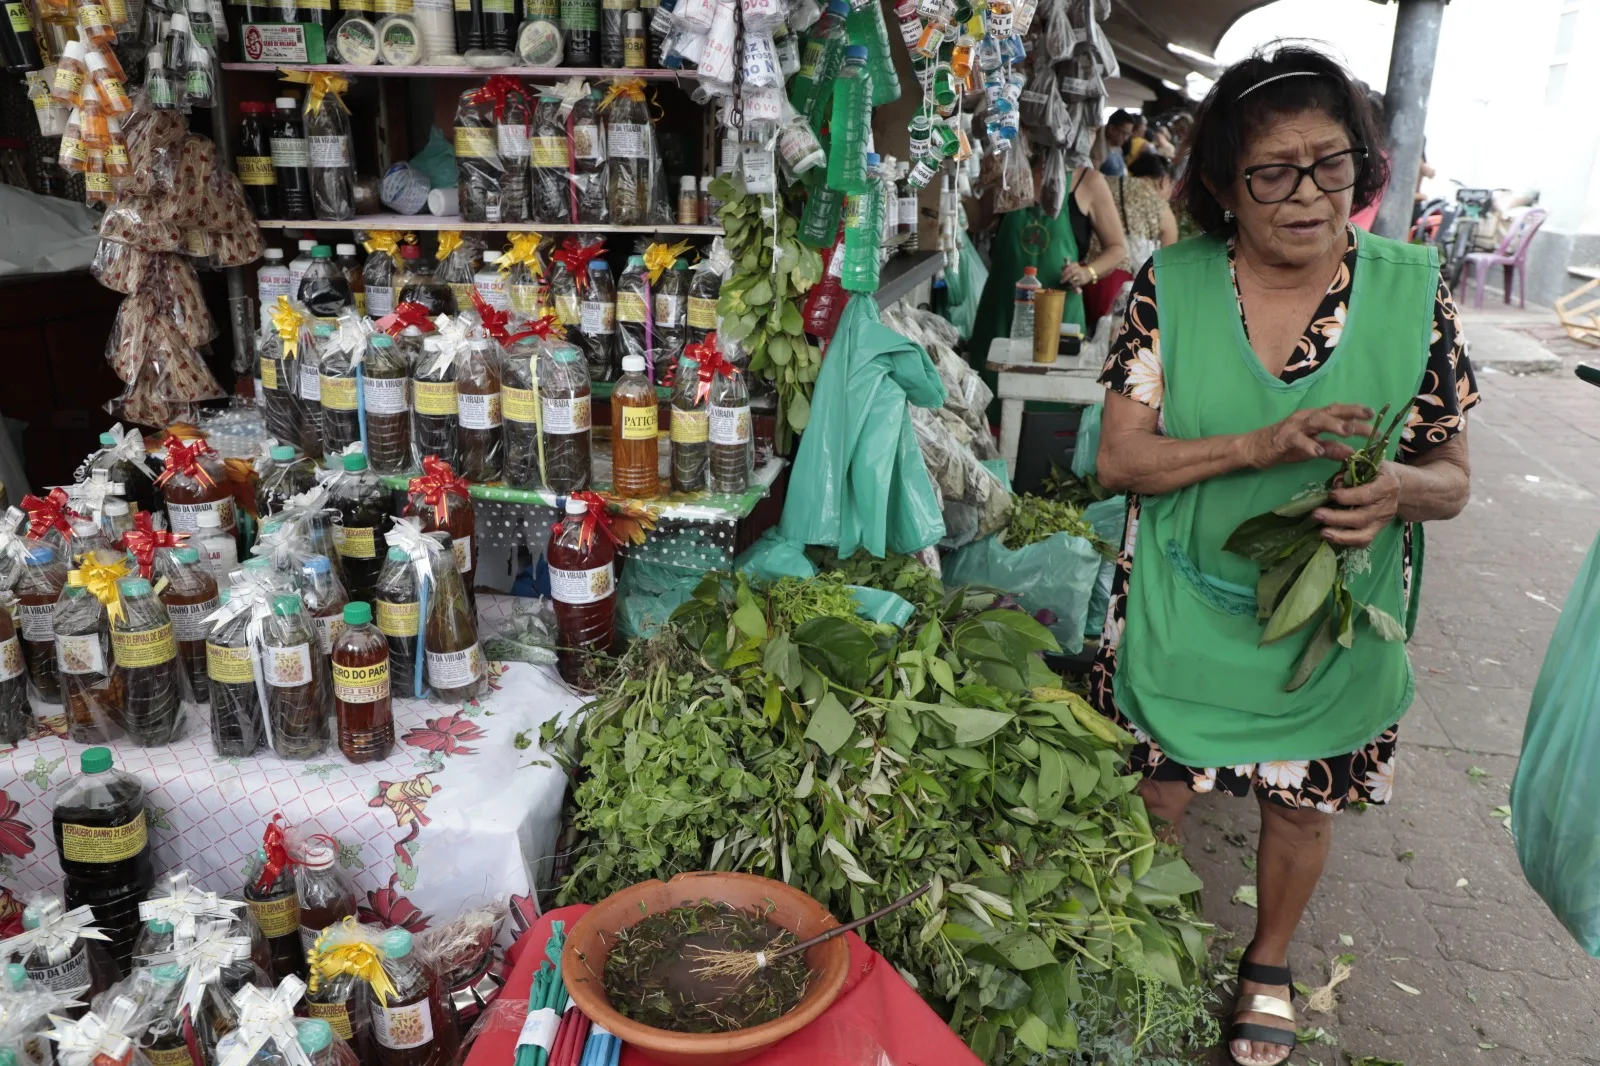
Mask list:
[[[550,922],[563,920],[571,928],[587,909],[550,911],[517,941],[512,973],[498,1004],[502,1013],[478,1036],[466,1066],[510,1066]],[[978,1056],[883,956],[854,933],[845,933],[845,940],[850,943],[850,975],[838,999],[810,1026],[752,1058],[750,1066],[979,1066]],[[643,1052],[622,1048],[622,1066],[653,1066],[654,1061]]]

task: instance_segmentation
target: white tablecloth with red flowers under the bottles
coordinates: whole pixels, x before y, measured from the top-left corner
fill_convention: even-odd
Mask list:
[[[480,615],[510,602],[480,595]],[[365,898],[362,920],[419,930],[486,901],[528,911],[566,789],[539,751],[539,723],[581,703],[552,667],[490,663],[480,701],[395,699],[395,747],[382,762],[354,765],[333,746],[309,762],[218,759],[197,707],[176,744],[110,747],[117,768],[146,786],[158,872],[187,868],[237,898],[245,858],[282,812],[339,840],[339,864]],[[0,935],[21,928],[32,893],[61,890],[51,794],[86,747],[61,730],[59,717],[46,719],[38,736],[0,751]]]

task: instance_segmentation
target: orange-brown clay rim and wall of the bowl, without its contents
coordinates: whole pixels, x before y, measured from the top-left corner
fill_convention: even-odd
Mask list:
[[[669,882],[646,880],[613,893],[590,908],[566,935],[562,949],[562,981],[578,1007],[597,1026],[605,1026],[664,1066],[731,1066],[754,1058],[827,1010],[850,970],[850,946],[843,936],[805,952],[811,981],[805,999],[782,1018],[733,1032],[669,1032],[630,1021],[611,1008],[605,994],[605,959],[619,930],[651,914],[701,900],[728,903],[744,911],[776,904],[768,920],[797,940],[808,940],[838,922],[798,888],[755,874],[678,874]]]

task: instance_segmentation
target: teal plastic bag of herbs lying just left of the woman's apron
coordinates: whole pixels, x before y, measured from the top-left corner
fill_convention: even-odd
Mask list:
[[[1082,536],[1056,533],[1011,551],[997,535],[952,552],[944,560],[944,584],[986,584],[1014,595],[1030,615],[1051,611],[1056,621],[1050,632],[1062,651],[1077,655],[1099,565],[1099,552]]]

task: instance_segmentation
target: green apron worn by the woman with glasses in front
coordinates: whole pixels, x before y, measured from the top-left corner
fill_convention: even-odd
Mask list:
[[[1250,347],[1224,242],[1197,237],[1155,254],[1166,435],[1243,434],[1330,403],[1373,411],[1387,403],[1390,418],[1410,410],[1427,365],[1438,261],[1432,248],[1360,230],[1358,242],[1338,349],[1293,383],[1270,376]],[[1312,459],[1142,498],[1115,698],[1170,757],[1192,767],[1325,759],[1371,743],[1411,704],[1405,645],[1382,640],[1360,608],[1355,647],[1336,647],[1309,682],[1283,691],[1315,626],[1258,647],[1259,568],[1222,551],[1240,522],[1336,469]],[[1370,552],[1371,568],[1349,578],[1352,595],[1406,618],[1402,523],[1382,530]]]

